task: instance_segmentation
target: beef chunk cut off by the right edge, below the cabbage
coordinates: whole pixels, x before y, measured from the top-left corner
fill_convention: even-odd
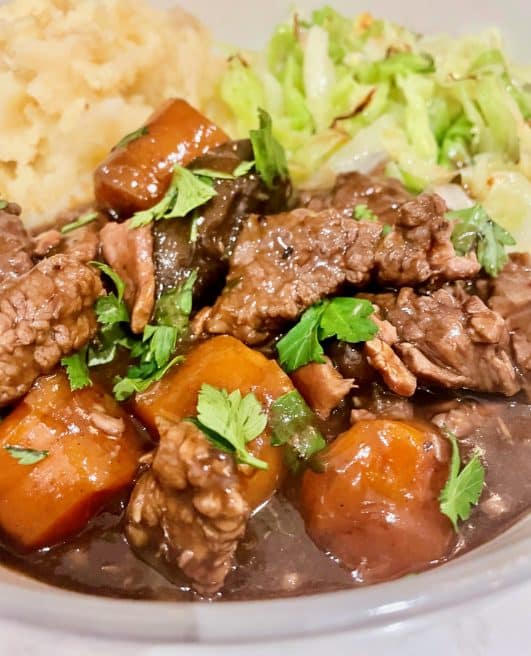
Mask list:
[[[500,314],[511,331],[517,365],[531,373],[531,256],[513,253],[491,283],[488,305]]]

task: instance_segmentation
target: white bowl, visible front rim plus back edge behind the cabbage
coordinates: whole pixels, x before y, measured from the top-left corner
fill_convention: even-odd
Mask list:
[[[370,6],[346,0],[329,2],[351,15],[370,9],[374,15],[425,32],[462,33],[495,25],[505,33],[509,50],[531,63],[528,0],[446,0],[438,5],[426,0],[371,0]],[[155,4],[169,6],[172,2]],[[192,10],[219,39],[252,47],[264,43],[273,25],[286,16],[290,4],[283,0],[195,0]],[[297,4],[313,8],[324,2]],[[114,638],[245,642],[347,629],[374,631],[495,594],[529,579],[531,517],[472,553],[418,576],[356,590],[273,601],[121,601],[51,588],[0,568],[0,616]]]

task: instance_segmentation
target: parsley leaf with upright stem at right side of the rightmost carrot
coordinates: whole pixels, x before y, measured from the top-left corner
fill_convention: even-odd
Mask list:
[[[479,456],[475,454],[459,471],[461,459],[457,437],[448,430],[446,436],[452,444],[452,459],[448,480],[441,492],[439,501],[441,512],[450,519],[457,531],[458,520],[468,519],[472,506],[475,506],[479,501],[485,481],[485,468],[481,464]]]

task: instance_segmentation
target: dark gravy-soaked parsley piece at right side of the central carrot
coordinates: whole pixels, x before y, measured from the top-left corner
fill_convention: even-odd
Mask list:
[[[286,446],[286,459],[297,470],[324,449],[326,441],[315,427],[315,416],[296,390],[287,392],[271,405],[271,444]]]

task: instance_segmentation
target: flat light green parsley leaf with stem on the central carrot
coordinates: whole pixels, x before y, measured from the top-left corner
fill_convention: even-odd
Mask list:
[[[199,390],[197,419],[191,421],[217,448],[234,454],[237,462],[267,469],[266,462],[247,450],[247,444],[267,425],[267,415],[252,392],[242,396],[240,390],[234,390],[229,394],[205,383]]]

